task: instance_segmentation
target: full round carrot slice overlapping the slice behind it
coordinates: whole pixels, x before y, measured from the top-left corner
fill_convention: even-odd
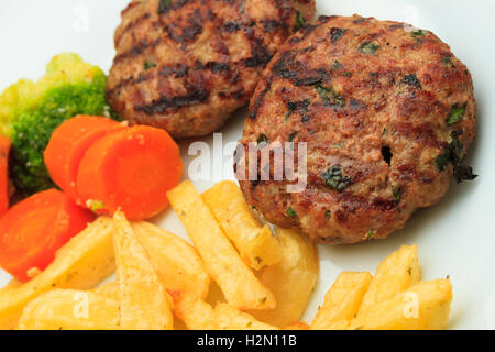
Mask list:
[[[130,220],[148,219],[168,205],[167,191],[183,172],[179,148],[160,129],[138,125],[96,141],[77,174],[77,194],[99,213],[121,209]]]

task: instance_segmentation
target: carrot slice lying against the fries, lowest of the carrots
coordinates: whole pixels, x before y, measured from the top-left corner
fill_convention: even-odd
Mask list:
[[[64,193],[48,189],[13,206],[0,219],[0,266],[16,279],[43,271],[56,251],[94,220]]]

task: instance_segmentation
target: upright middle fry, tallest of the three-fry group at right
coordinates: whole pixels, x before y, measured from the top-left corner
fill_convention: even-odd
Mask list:
[[[391,254],[376,270],[370,288],[363,297],[358,311],[362,315],[370,307],[408,289],[421,280],[418,262],[418,249],[415,245],[403,245]]]

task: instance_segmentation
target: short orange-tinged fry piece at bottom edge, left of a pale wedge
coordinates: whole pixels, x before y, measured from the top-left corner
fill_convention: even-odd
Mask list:
[[[202,299],[180,290],[168,290],[174,312],[189,330],[218,330],[213,308]]]

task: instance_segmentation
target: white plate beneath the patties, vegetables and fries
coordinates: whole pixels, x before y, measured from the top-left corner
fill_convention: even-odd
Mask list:
[[[0,2],[0,89],[21,77],[37,78],[52,56],[64,51],[109,69],[113,31],[128,0],[2,0]],[[495,1],[491,0],[317,0],[318,14],[360,13],[380,20],[407,21],[433,31],[452,46],[474,77],[479,102],[477,136],[470,163],[481,176],[452,184],[438,206],[418,212],[406,229],[388,240],[349,248],[320,246],[321,275],[307,319],[341,271],[372,271],[405,243],[417,243],[426,279],[450,275],[454,301],[450,328],[495,329]],[[241,135],[245,113],[238,113],[223,132],[223,143]],[[206,139],[212,146],[212,138]],[[187,145],[183,143],[183,156]],[[215,151],[218,157],[221,147]],[[226,157],[232,178],[231,161]],[[186,163],[187,167],[187,163]],[[187,169],[187,168],[186,168]],[[215,167],[220,170],[219,166]],[[200,190],[222,178],[196,183]],[[170,210],[162,227],[186,232]],[[9,279],[0,273],[0,287]]]

